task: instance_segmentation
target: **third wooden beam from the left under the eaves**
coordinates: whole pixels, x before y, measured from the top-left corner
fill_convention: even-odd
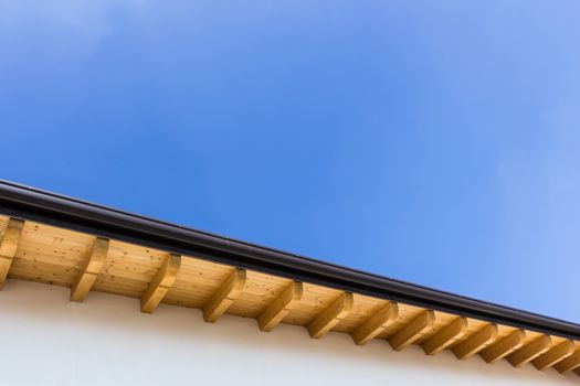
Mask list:
[[[181,256],[170,254],[141,296],[141,312],[152,313],[173,286],[181,266]]]

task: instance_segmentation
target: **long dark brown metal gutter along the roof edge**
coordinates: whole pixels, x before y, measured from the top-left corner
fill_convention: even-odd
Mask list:
[[[580,324],[355,270],[0,180],[0,213],[463,317],[580,340]]]

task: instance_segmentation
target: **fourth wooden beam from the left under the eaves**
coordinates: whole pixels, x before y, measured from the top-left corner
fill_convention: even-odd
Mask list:
[[[244,287],[245,269],[235,268],[208,303],[203,305],[203,320],[208,323],[214,323],[242,294]]]

